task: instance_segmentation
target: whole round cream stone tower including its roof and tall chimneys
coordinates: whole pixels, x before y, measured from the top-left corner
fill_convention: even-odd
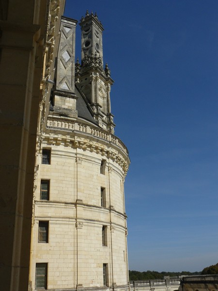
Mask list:
[[[30,290],[128,290],[124,180],[128,151],[114,135],[103,26],[62,17],[55,84],[39,121]],[[76,83],[75,72],[76,70]]]

